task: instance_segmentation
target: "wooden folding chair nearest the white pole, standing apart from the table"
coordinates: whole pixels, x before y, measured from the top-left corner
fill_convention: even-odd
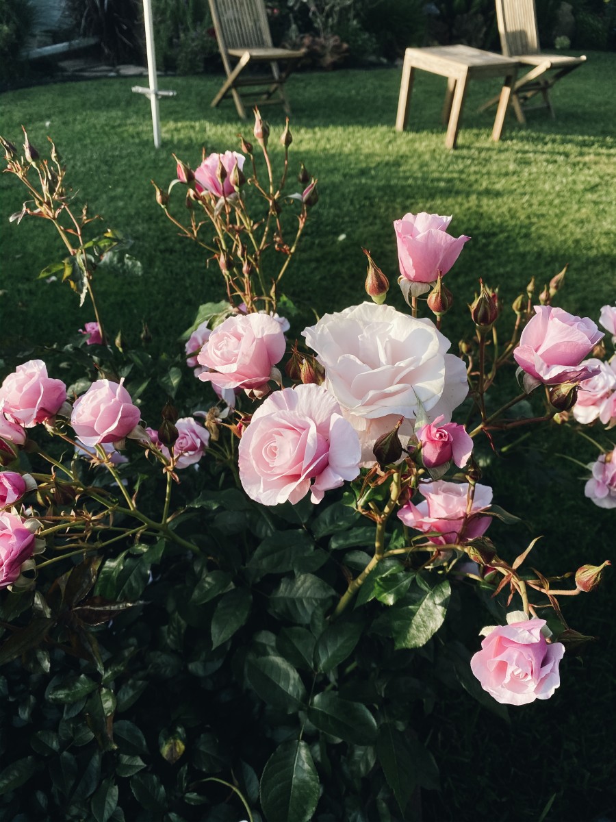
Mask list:
[[[224,70],[227,72],[227,80],[212,100],[212,107],[215,108],[224,97],[231,94],[237,113],[242,119],[246,119],[245,104],[249,104],[242,99],[240,88],[254,85],[266,88],[261,92],[261,98],[251,103],[251,106],[255,103],[282,103],[285,112],[290,113],[283,86],[297,61],[304,56],[304,50],[274,48],[264,0],[209,0],[209,8]],[[278,67],[278,60],[286,62],[282,72]],[[269,63],[269,72],[266,74],[245,72],[245,69],[255,64],[264,63]],[[275,92],[278,94],[274,97]]]

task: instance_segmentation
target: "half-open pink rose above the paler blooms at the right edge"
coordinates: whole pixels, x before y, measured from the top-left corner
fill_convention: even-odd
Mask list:
[[[525,377],[526,390],[545,383],[587,380],[597,369],[581,365],[604,334],[588,317],[568,314],[562,308],[535,306],[535,316],[526,325],[513,352]]]

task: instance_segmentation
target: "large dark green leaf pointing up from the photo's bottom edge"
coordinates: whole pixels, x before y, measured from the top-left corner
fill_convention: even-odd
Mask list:
[[[265,764],[261,805],[269,822],[309,822],[319,801],[319,777],[304,741],[283,742]]]

